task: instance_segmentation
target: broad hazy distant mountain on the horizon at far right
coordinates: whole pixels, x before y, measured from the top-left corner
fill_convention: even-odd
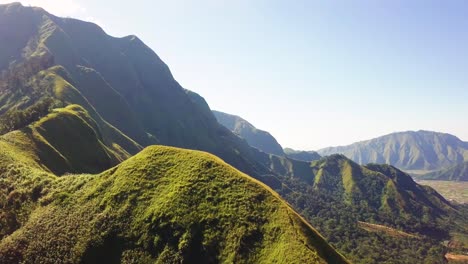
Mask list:
[[[360,163],[386,163],[403,170],[437,170],[468,159],[468,143],[445,133],[398,132],[348,146],[318,150],[322,156],[344,154]]]

